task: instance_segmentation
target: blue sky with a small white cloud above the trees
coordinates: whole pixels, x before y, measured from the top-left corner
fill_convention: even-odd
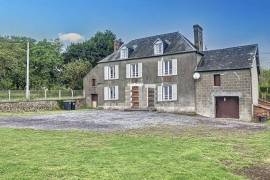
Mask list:
[[[83,41],[113,31],[125,42],[179,31],[193,42],[194,24],[207,49],[259,44],[270,68],[269,0],[0,0],[0,35]]]

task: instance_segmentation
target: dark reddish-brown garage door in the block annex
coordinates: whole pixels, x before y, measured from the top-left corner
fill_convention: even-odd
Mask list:
[[[239,119],[239,97],[216,97],[216,117]]]

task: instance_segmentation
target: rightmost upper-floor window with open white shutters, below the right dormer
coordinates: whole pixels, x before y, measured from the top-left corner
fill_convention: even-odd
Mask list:
[[[158,76],[173,76],[177,75],[177,59],[158,61]]]

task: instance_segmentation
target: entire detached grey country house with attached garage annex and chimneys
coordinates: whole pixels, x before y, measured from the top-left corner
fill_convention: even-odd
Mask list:
[[[104,109],[197,113],[250,121],[258,104],[257,45],[203,51],[179,32],[115,42],[84,78],[87,104]]]

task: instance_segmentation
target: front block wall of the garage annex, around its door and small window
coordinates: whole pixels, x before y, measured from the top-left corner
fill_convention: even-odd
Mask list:
[[[240,120],[252,120],[252,80],[250,69],[201,72],[196,80],[196,112],[215,117],[216,96],[239,97]],[[214,86],[214,74],[221,75],[221,86]]]

